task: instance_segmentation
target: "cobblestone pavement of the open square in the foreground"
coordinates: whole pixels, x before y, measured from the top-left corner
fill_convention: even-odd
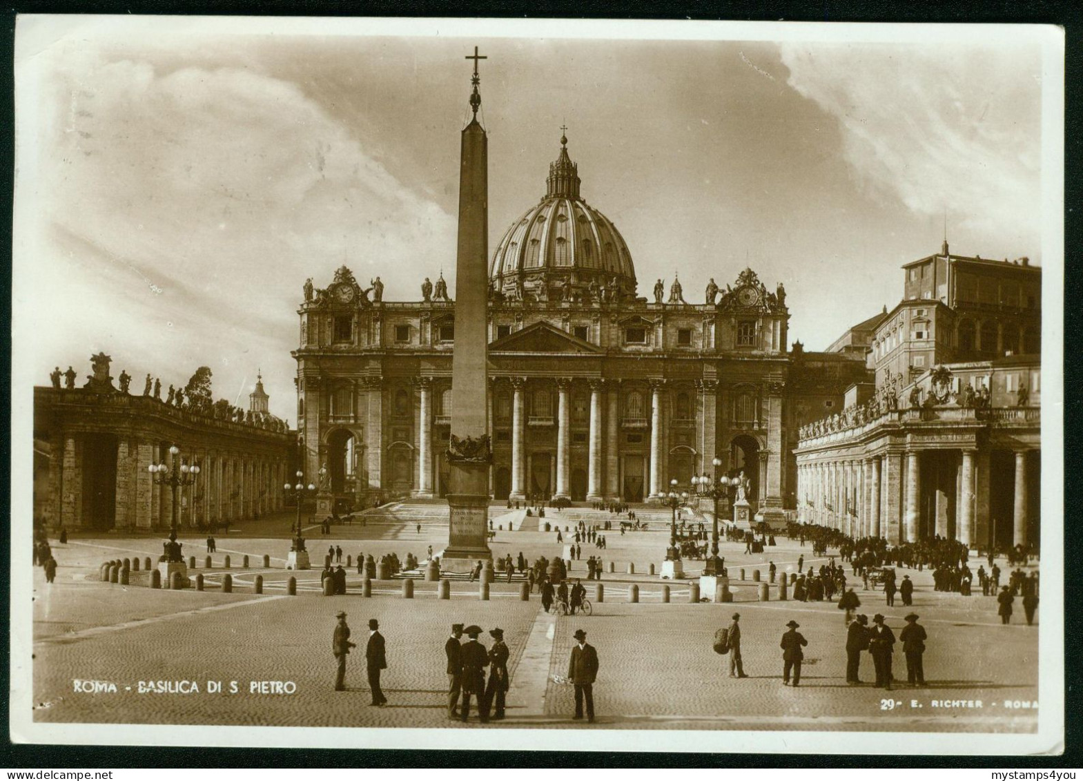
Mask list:
[[[600,515],[605,517],[605,515]],[[270,523],[270,521],[269,521]],[[264,534],[270,530],[264,530]],[[1005,702],[1031,702],[1038,698],[1038,630],[1022,624],[1021,609],[1015,623],[1003,627],[995,600],[932,591],[931,575],[903,571],[915,581],[913,610],[929,633],[925,669],[928,687],[912,689],[904,684],[891,694],[845,684],[845,630],[843,615],[834,603],[767,603],[756,601],[754,584],[732,582],[735,604],[689,604],[688,583],[670,585],[670,604],[661,604],[662,582],[644,574],[667,543],[668,533],[656,531],[609,532],[610,548],[599,551],[604,561],[618,562],[618,572],[604,574],[604,601],[595,604],[589,617],[559,617],[547,634],[539,624],[532,639],[531,669],[522,669],[527,638],[539,614],[538,595],[519,599],[518,586],[501,583],[491,587],[492,599],[481,601],[478,584],[453,584],[451,601],[438,600],[435,585],[417,582],[416,598],[400,596],[401,584],[375,582],[374,597],[360,596],[361,580],[351,574],[350,594],[318,596],[318,570],[290,573],[280,569],[288,550],[284,538],[266,536],[218,537],[216,569],[203,570],[206,556],[201,537],[182,537],[185,554],[195,555],[196,572],[206,575],[207,589],[154,590],[134,576],[125,587],[97,581],[97,565],[109,558],[156,557],[160,539],[145,537],[73,538],[54,547],[60,562],[56,583],[44,584],[35,570],[35,718],[42,721],[95,721],[140,724],[221,724],[292,726],[369,726],[461,728],[446,719],[443,642],[452,622],[478,623],[485,629],[500,626],[511,649],[513,690],[508,720],[490,725],[576,729],[680,728],[680,729],[840,729],[840,730],[937,730],[1030,731],[1035,710],[1012,710]],[[407,551],[423,558],[425,548],[439,550],[446,539],[435,521],[422,525],[421,534],[406,524],[336,526],[330,537],[309,537],[315,554],[326,545],[342,545],[347,554],[358,550],[380,556]],[[751,578],[754,564],[773,560],[780,571],[796,570],[800,554],[796,543],[779,538],[780,545],[765,556],[744,556],[743,545],[723,544],[730,568],[745,567]],[[497,534],[495,555],[520,550],[529,559],[559,555],[554,533],[517,531]],[[221,564],[230,552],[235,593],[223,594]],[[596,552],[583,547],[584,558]],[[239,569],[243,555],[255,567]],[[272,568],[259,567],[262,555]],[[315,558],[315,557],[314,557]],[[811,555],[806,557],[806,564]],[[627,562],[637,572],[627,574]],[[977,568],[977,561],[974,567]],[[697,576],[702,562],[686,562]],[[1002,569],[1006,569],[1001,562]],[[693,569],[694,568],[694,569]],[[621,572],[625,571],[625,572]],[[355,570],[352,571],[355,573]],[[193,573],[195,574],[195,573]],[[256,574],[264,576],[264,595],[252,591]],[[736,574],[731,570],[731,574]],[[849,573],[848,573],[849,574]],[[297,597],[285,596],[288,576],[298,578]],[[572,575],[585,575],[574,562]],[[851,582],[854,581],[850,576]],[[586,582],[585,582],[586,583]],[[628,588],[640,587],[640,603],[628,603]],[[593,588],[588,585],[588,597]],[[883,612],[896,634],[902,616],[910,612],[897,599],[884,606],[878,591],[864,591],[857,582],[861,612]],[[771,587],[771,599],[777,596]],[[743,655],[751,678],[734,680],[726,673],[727,656],[710,648],[715,629],[728,623],[733,609],[742,613]],[[335,660],[330,651],[334,614],[345,610],[353,639],[362,651],[367,620],[380,620],[388,641],[389,669],[383,675],[388,707],[370,707],[364,656],[350,659],[349,691],[332,689]],[[795,619],[808,638],[800,688],[781,685],[779,639],[785,622]],[[537,665],[548,660],[548,674],[567,672],[572,633],[588,632],[598,648],[601,672],[596,685],[599,723],[591,727],[569,720],[573,711],[572,688],[549,681],[538,686]],[[485,641],[491,638],[483,636]],[[486,642],[490,645],[490,642]],[[901,651],[901,649],[900,649]],[[901,652],[895,658],[895,675],[905,678]],[[532,691],[545,692],[544,701],[516,701],[518,676],[534,680]],[[872,663],[862,660],[862,677],[872,680]],[[75,681],[116,684],[116,692],[88,693]],[[140,693],[140,681],[195,681],[198,693]],[[252,681],[291,681],[291,694],[260,693]],[[223,691],[208,692],[207,681],[221,681]],[[238,691],[230,692],[237,681]],[[131,690],[128,690],[128,687]],[[144,687],[145,688],[145,687]],[[943,701],[963,701],[978,706],[945,707]],[[911,701],[915,701],[912,704]],[[888,704],[890,703],[890,705]],[[477,726],[471,719],[471,726]]]

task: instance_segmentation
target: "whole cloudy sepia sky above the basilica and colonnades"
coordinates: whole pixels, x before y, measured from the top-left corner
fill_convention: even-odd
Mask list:
[[[104,350],[138,390],[207,365],[216,396],[242,406],[262,372],[271,411],[295,422],[306,277],[324,287],[345,263],[366,286],[379,275],[386,300],[417,300],[442,271],[454,297],[475,44],[491,251],[545,194],[566,123],[582,194],[624,236],[640,295],[676,273],[701,302],[708,277],[747,265],[785,284],[807,350],[893,307],[899,266],[939,251],[945,224],[953,253],[1042,262],[1042,60],[1027,36],[663,40],[647,26],[630,40],[569,37],[574,24],[414,37],[21,17],[15,360],[43,385]]]

